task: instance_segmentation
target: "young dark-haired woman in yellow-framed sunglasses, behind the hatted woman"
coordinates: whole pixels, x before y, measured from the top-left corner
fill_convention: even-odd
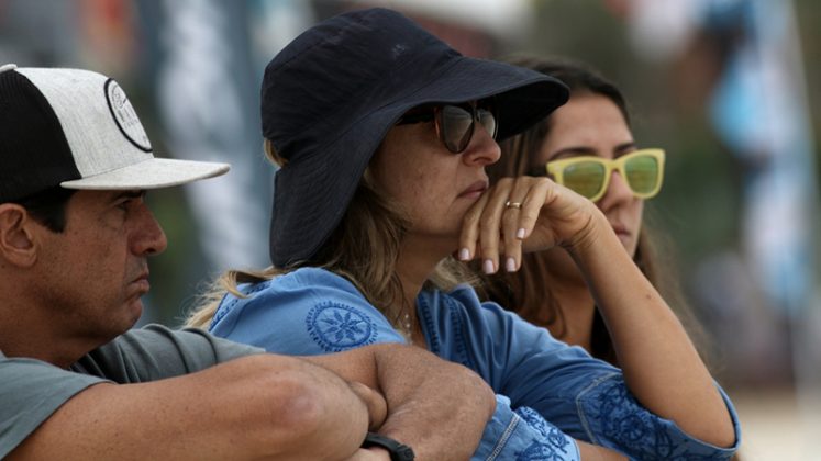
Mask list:
[[[501,143],[501,159],[487,168],[491,183],[504,177],[547,176],[589,199],[607,217],[636,267],[676,310],[691,336],[703,331],[677,290],[669,265],[659,265],[644,201],[664,179],[665,153],[637,147],[619,89],[569,59],[518,57],[511,64],[562,80],[569,101],[547,119]],[[480,268],[477,268],[480,269]],[[590,355],[618,364],[602,313],[584,273],[563,248],[522,257],[521,269],[488,278],[488,297]]]

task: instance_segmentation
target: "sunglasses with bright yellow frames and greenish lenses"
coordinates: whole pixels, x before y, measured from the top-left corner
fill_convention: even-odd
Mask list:
[[[604,195],[613,170],[618,170],[640,199],[655,196],[664,179],[664,150],[641,149],[615,160],[596,156],[563,158],[545,165],[557,183],[596,202]]]

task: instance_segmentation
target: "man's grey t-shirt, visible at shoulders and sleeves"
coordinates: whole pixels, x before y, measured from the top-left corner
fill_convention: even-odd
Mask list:
[[[0,351],[0,459],[75,394],[101,383],[141,383],[204,370],[263,352],[198,329],[133,329],[84,356],[68,370]]]

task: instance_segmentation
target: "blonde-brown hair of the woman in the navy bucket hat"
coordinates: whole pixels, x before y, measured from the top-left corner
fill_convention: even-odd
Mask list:
[[[277,154],[268,139],[265,139],[264,149],[270,161],[287,168],[287,160]],[[342,221],[315,255],[285,268],[271,266],[263,270],[226,271],[200,295],[186,326],[208,328],[226,292],[245,297],[237,289],[240,284],[264,282],[301,267],[323,268],[344,277],[397,325],[402,314],[411,308],[403,299],[396,272],[401,243],[409,228],[410,222],[401,206],[377,190],[369,170],[366,170]],[[436,266],[425,288],[450,291],[459,283],[476,282],[470,269],[447,257]]]

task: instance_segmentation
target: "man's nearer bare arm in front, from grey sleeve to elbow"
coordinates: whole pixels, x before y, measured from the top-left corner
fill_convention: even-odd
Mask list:
[[[256,355],[179,378],[87,387],[8,459],[344,459],[367,427],[368,408],[339,376]]]

